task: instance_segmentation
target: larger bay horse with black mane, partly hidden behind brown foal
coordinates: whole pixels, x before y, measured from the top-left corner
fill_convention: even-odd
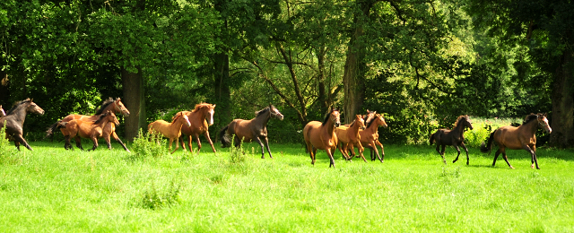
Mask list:
[[[77,120],[77,119],[81,119],[83,121],[97,121],[100,117],[101,114],[107,112],[107,111],[112,111],[114,114],[121,114],[124,116],[129,116],[129,111],[127,110],[127,108],[124,106],[124,103],[122,103],[121,99],[117,98],[117,99],[113,99],[113,98],[108,98],[106,99],[100,106],[100,108],[98,108],[98,110],[96,110],[96,114],[93,116],[86,116],[86,115],[79,115],[79,114],[70,114],[68,116],[65,116],[63,119],[57,121],[56,123],[54,123],[53,125],[50,125],[48,127],[48,130],[46,131],[46,137],[51,137],[52,135],[54,135],[54,131],[57,128],[57,125],[62,123],[62,122],[69,122],[71,120]],[[68,135],[69,133],[65,130],[65,128],[60,128],[60,131],[62,132],[62,134],[64,134],[64,136]],[[115,134],[115,133],[114,133]],[[117,135],[116,135],[117,136]],[[122,144],[122,146],[124,146],[124,148],[126,148],[126,146],[124,145],[124,142],[118,141],[120,142],[120,144]]]

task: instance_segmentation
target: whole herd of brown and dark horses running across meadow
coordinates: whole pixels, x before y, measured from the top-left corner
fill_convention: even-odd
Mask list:
[[[215,105],[208,103],[197,104],[192,111],[180,111],[172,117],[171,122],[164,120],[157,120],[148,125],[149,134],[161,134],[170,139],[170,150],[172,142],[176,141],[176,148],[171,153],[178,150],[179,139],[181,139],[181,147],[186,151],[185,142],[189,146],[189,151],[192,151],[192,139],[195,136],[197,141],[198,151],[201,150],[201,142],[199,135],[204,135],[210,143],[213,152],[213,142],[209,136],[208,127],[213,125],[213,114]],[[32,151],[30,145],[23,138],[22,126],[24,119],[28,113],[43,115],[44,110],[39,108],[32,99],[24,99],[18,101],[13,105],[8,112],[4,112],[0,106],[0,128],[5,126],[6,138],[13,141],[16,148],[20,151],[20,144],[24,145],[27,149]],[[74,138],[76,147],[83,150],[81,138],[91,139],[93,146],[90,150],[95,150],[98,147],[98,139],[104,138],[108,144],[108,149],[111,149],[109,142],[110,137],[113,137],[119,142],[126,151],[129,151],[126,144],[122,142],[117,136],[115,130],[119,125],[116,114],[129,116],[129,111],[124,106],[119,98],[106,99],[101,107],[96,111],[93,116],[85,115],[68,115],[63,119],[57,121],[55,124],[48,127],[47,136],[52,136],[54,132],[59,129],[65,137],[65,149],[74,150],[70,140]],[[273,158],[269,150],[269,142],[267,140],[266,125],[271,118],[283,120],[283,114],[279,112],[272,104],[256,112],[256,117],[250,120],[235,119],[229,125],[224,126],[219,132],[219,139],[222,142],[222,147],[231,145],[231,137],[236,147],[239,147],[241,142],[257,142],[261,146],[261,158],[265,158],[265,148],[269,153],[269,158]],[[335,168],[335,160],[333,155],[338,149],[343,154],[345,160],[352,160],[353,157],[360,157],[365,162],[367,161],[363,156],[364,148],[370,149],[370,159],[376,160],[377,156],[380,162],[385,158],[385,151],[383,144],[378,141],[378,127],[387,127],[385,118],[382,114],[377,114],[376,111],[367,110],[364,116],[356,115],[354,120],[349,125],[341,125],[340,113],[336,108],[331,108],[329,114],[326,115],[323,122],[311,121],[303,128],[303,138],[306,143],[306,150],[309,152],[311,164],[315,164],[315,157],[317,150],[324,150],[329,157],[329,167]],[[452,145],[458,152],[457,158],[453,163],[458,160],[460,156],[459,146],[466,151],[466,165],[469,164],[468,149],[464,143],[465,128],[473,129],[469,116],[458,116],[457,122],[452,130],[439,129],[436,133],[431,134],[431,144],[437,144],[436,150],[439,152],[444,163],[447,161],[444,157],[445,147]],[[537,129],[542,128],[548,134],[552,133],[550,125],[548,125],[548,118],[546,114],[530,114],[526,116],[522,125],[517,127],[507,125],[502,126],[495,130],[488,137],[488,142],[481,145],[482,152],[491,151],[494,142],[499,146],[499,150],[494,155],[492,166],[495,166],[496,160],[502,154],[504,160],[513,168],[506,155],[506,149],[510,150],[526,150],[531,154],[532,165],[531,168],[538,168],[538,160],[536,158],[536,137],[535,132]],[[381,153],[379,155],[378,146],[380,146]],[[359,155],[354,152],[354,147],[357,147]],[[90,151],[88,150],[88,151]],[[349,154],[351,152],[351,154]]]

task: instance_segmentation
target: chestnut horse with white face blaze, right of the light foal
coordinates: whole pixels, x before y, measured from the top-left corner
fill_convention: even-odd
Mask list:
[[[186,151],[186,141],[184,138],[187,138],[187,144],[189,145],[189,151],[191,152],[191,141],[192,136],[195,136],[197,139],[197,151],[201,150],[201,142],[199,140],[199,135],[204,134],[205,138],[212,146],[213,152],[215,152],[215,147],[213,147],[212,139],[209,137],[209,125],[213,125],[213,113],[215,113],[215,105],[208,104],[208,103],[201,103],[197,104],[196,108],[193,111],[183,111],[189,118],[190,126],[184,125],[181,127],[181,147],[183,151]]]

